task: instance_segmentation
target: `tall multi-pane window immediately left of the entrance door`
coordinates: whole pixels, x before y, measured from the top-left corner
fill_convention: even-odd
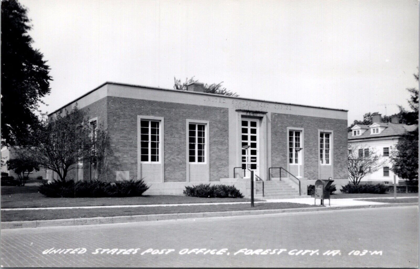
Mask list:
[[[188,152],[190,163],[205,162],[205,124],[188,124]]]

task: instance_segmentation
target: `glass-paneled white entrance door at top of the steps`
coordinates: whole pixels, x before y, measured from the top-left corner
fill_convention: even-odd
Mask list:
[[[248,145],[249,148],[244,149],[242,147],[244,145]],[[257,119],[242,119],[241,121],[241,153],[242,169],[245,169],[245,177],[251,176],[248,169],[257,174],[259,167]]]

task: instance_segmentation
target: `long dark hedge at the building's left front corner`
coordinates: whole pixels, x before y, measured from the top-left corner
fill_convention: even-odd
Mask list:
[[[43,182],[39,192],[46,197],[136,197],[147,191],[143,180],[126,180],[115,183],[95,181],[54,180]]]

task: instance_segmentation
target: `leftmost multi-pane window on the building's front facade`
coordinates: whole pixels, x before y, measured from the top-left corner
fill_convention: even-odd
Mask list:
[[[160,121],[142,119],[140,121],[140,160],[157,163],[160,161]]]

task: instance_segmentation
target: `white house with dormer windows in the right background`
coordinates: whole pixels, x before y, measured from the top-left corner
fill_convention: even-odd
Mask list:
[[[368,148],[372,148],[376,153],[382,155],[386,163],[378,171],[368,174],[361,181],[372,183],[383,182],[393,184],[394,173],[391,171],[392,163],[389,159],[391,150],[396,147],[399,138],[405,132],[416,129],[416,125],[406,125],[399,123],[398,117],[392,117],[391,122],[381,122],[381,114],[372,115],[373,124],[354,125],[352,131],[348,133],[349,145],[354,145],[358,150],[359,157],[369,154]],[[396,182],[404,180],[396,176]]]

